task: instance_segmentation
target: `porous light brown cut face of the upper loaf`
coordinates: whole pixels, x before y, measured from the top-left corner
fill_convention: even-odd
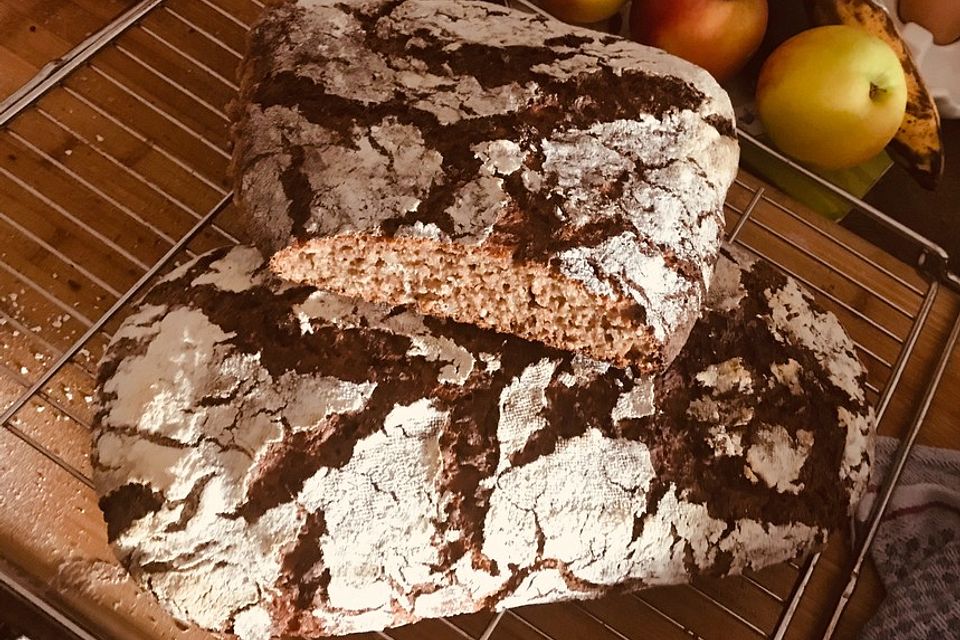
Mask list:
[[[340,235],[276,253],[286,280],[355,299],[412,304],[424,315],[583,353],[642,371],[663,366],[663,351],[632,300],[599,297],[548,267],[426,238]]]

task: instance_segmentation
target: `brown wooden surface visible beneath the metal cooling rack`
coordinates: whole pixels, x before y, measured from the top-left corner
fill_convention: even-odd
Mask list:
[[[132,4],[0,0],[0,94],[15,91]],[[245,32],[260,10],[255,0],[165,0],[0,130],[0,407],[21,396],[228,195],[223,107],[236,91]],[[807,281],[837,313],[863,347],[876,399],[928,280],[745,174],[730,193],[731,228],[751,201],[757,205],[739,240]],[[174,262],[242,241],[237,215],[227,206]],[[930,315],[883,417],[883,433],[898,435],[910,423],[960,313],[953,292],[930,295]],[[90,474],[96,362],[124,312],[0,429],[0,560],[104,638],[208,638],[178,629],[133,585],[113,558],[96,498],[82,481]],[[957,389],[960,353],[952,353],[920,442],[960,446]],[[820,637],[848,548],[842,534],[834,537],[787,638]],[[500,619],[492,637],[632,640],[689,638],[687,631],[705,639],[765,637],[796,578],[795,568],[778,565],[747,578],[526,607]],[[868,565],[837,637],[855,637],[882,597]],[[476,614],[389,635],[479,638],[491,620]]]

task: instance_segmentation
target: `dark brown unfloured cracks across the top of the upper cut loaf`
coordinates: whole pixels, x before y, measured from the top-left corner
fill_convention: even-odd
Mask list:
[[[662,117],[668,112],[696,110],[703,102],[703,94],[692,85],[669,76],[653,75],[642,70],[628,70],[621,76],[609,68],[599,68],[596,73],[580,76],[573,81],[559,81],[534,68],[539,64],[562,59],[550,46],[573,46],[577,36],[544,43],[546,46],[495,48],[492,46],[464,45],[455,52],[443,51],[441,45],[430,42],[429,34],[417,33],[426,46],[413,47],[406,38],[378,37],[376,22],[389,15],[402,4],[402,0],[387,2],[376,13],[368,15],[355,9],[357,16],[367,27],[367,45],[371,51],[385,56],[403,55],[418,61],[438,74],[472,76],[481,86],[493,89],[516,82],[521,85],[535,82],[543,90],[540,103],[531,105],[518,113],[487,116],[461,120],[451,124],[440,123],[433,114],[417,109],[402,98],[371,105],[332,95],[316,82],[287,71],[277,72],[273,60],[278,48],[285,44],[285,34],[292,24],[301,22],[302,9],[291,4],[284,12],[277,12],[256,25],[249,38],[249,53],[241,67],[241,93],[238,106],[231,110],[235,120],[233,174],[239,176],[251,167],[257,158],[250,157],[244,142],[251,137],[245,131],[246,121],[240,106],[257,105],[262,110],[280,106],[296,109],[307,121],[332,131],[347,132],[354,127],[369,129],[386,117],[417,127],[428,148],[441,154],[445,161],[445,179],[434,185],[423,199],[416,212],[386,220],[381,225],[385,235],[415,221],[436,224],[442,231],[454,235],[453,223],[446,209],[453,203],[457,191],[479,171],[480,161],[470,147],[484,140],[537,140],[549,134],[569,129],[586,129],[599,122],[629,119],[637,114]],[[303,63],[315,62],[310,52],[298,53]],[[564,54],[566,57],[573,52]],[[593,99],[592,97],[602,99]],[[735,137],[733,123],[719,114],[707,118],[722,135]],[[293,221],[291,243],[311,237],[304,229],[314,193],[303,175],[303,149],[291,144],[287,147],[291,156],[289,167],[281,178],[291,205],[289,216]],[[542,157],[528,160],[535,167]],[[638,165],[642,173],[647,166]],[[570,238],[564,234],[555,210],[560,204],[557,197],[543,197],[543,193],[557,185],[546,183],[540,194],[530,192],[521,182],[519,174],[505,180],[505,187],[515,213],[511,222],[498,225],[494,237],[498,244],[510,250],[518,260],[538,261],[573,246],[585,246],[582,238]],[[616,195],[617,184],[607,187],[611,197]],[[242,203],[242,201],[241,201]],[[519,217],[522,216],[522,217]],[[259,224],[254,216],[249,223]],[[599,223],[598,223],[599,224]],[[597,242],[630,231],[633,227],[622,217],[613,217],[603,222],[591,235]],[[251,237],[261,242],[267,252],[277,251],[281,246],[262,244],[269,236],[260,228],[254,228]]]

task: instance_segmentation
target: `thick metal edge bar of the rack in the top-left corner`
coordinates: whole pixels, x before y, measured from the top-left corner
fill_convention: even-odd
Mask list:
[[[117,36],[147,15],[161,2],[163,0],[141,0],[117,16],[103,29],[71,49],[66,55],[44,65],[29,82],[11,94],[6,100],[0,102],[0,128],[16,118],[20,112],[40,99],[43,94],[70,75],[74,69],[80,67],[96,55],[98,51],[113,42]]]

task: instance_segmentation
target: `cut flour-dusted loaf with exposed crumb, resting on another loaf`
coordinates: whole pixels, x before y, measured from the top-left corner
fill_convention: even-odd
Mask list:
[[[281,3],[231,113],[281,276],[648,371],[699,313],[739,155],[703,70],[474,0]]]

